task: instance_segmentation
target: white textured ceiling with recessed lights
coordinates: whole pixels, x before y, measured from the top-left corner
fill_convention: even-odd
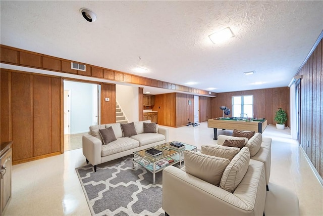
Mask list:
[[[3,45],[217,93],[287,87],[322,29],[323,1],[1,1]]]

